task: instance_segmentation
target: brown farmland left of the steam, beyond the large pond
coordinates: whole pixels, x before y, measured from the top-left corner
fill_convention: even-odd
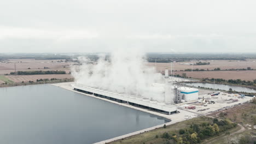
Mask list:
[[[38,71],[38,70],[62,70],[67,74],[50,74],[50,75],[4,75],[16,71]],[[0,62],[0,83],[13,82],[28,82],[37,79],[71,79],[69,75],[70,67],[73,63],[65,62],[65,59],[49,59],[49,60],[35,60],[35,59],[8,59],[8,61]]]

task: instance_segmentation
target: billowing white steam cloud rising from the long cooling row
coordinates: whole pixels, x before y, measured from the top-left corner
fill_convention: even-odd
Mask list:
[[[110,62],[101,55],[97,62],[79,57],[80,70],[73,68],[72,75],[80,85],[92,86],[108,91],[134,94],[136,97],[164,101],[162,75],[155,68],[147,67],[141,52],[115,51]]]

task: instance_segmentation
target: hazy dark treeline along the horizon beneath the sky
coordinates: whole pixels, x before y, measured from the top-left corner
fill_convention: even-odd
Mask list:
[[[71,61],[79,56],[85,56],[92,61],[97,61],[100,53],[13,53],[4,54],[0,53],[0,59],[66,59]],[[104,53],[106,60],[110,61],[110,53]],[[169,62],[183,62],[190,60],[210,60],[210,59],[222,59],[222,60],[237,60],[246,61],[246,59],[256,59],[256,53],[146,53],[144,57],[148,62],[157,63],[169,63]]]

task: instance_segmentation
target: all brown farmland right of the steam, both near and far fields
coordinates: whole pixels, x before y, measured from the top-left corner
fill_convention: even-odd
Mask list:
[[[247,59],[247,61],[234,61],[234,60],[212,60],[212,61],[202,61],[202,62],[210,62],[210,65],[193,65],[193,69],[205,69],[205,70],[213,70],[215,68],[220,68],[222,70],[225,69],[247,69],[251,67],[251,69],[255,70],[234,70],[234,71],[180,71],[185,69],[191,69],[191,65],[183,65],[184,63],[196,63],[198,61],[191,62],[177,62],[173,63],[174,74],[182,75],[186,73],[188,77],[193,78],[215,78],[215,79],[241,79],[246,81],[252,81],[256,79],[256,59]],[[155,67],[155,63],[147,63],[147,65],[151,67]],[[156,63],[156,70],[163,71],[165,69],[171,70],[170,63]],[[177,70],[177,71],[176,71]]]

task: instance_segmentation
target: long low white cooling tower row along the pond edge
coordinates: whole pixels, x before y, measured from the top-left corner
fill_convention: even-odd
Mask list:
[[[158,101],[144,99],[143,97],[136,97],[135,95],[131,94],[115,93],[104,89],[78,84],[74,84],[72,87],[76,91],[94,95],[95,97],[106,98],[109,100],[118,101],[119,103],[127,103],[133,106],[142,107],[143,109],[165,113],[167,115],[177,112],[177,106],[170,103],[158,103]]]

